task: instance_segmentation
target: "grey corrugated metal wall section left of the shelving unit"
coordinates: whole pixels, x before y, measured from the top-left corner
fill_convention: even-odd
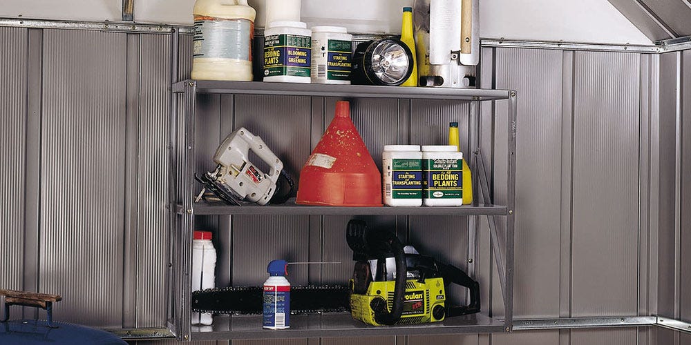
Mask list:
[[[59,321],[165,326],[170,41],[0,28],[0,287]]]

